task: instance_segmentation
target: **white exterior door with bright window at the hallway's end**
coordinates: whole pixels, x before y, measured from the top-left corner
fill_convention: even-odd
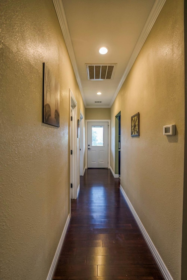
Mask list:
[[[108,168],[108,122],[88,122],[88,168]]]

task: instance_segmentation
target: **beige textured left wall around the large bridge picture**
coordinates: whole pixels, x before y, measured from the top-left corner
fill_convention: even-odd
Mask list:
[[[69,88],[85,108],[51,0],[1,7],[1,279],[46,279],[69,214]],[[42,123],[42,63],[60,128]]]

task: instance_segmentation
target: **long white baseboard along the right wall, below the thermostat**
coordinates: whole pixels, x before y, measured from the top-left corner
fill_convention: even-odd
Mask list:
[[[141,233],[143,234],[143,237],[145,238],[147,245],[149,246],[149,249],[150,249],[151,253],[153,254],[153,257],[155,258],[155,261],[157,262],[157,265],[160,268],[160,271],[162,272],[162,275],[164,276],[164,279],[165,280],[173,280],[171,274],[169,273],[167,267],[165,266],[162,258],[160,257],[157,249],[155,248],[152,240],[150,239],[146,229],[144,228],[141,220],[139,219],[136,211],[134,210],[129,198],[127,197],[127,195],[126,195],[126,193],[125,193],[125,191],[124,191],[124,189],[122,188],[121,185],[120,185],[120,191],[122,193],[122,196],[123,196],[125,202],[129,206],[129,208],[131,210],[131,213],[134,216],[134,219],[136,220],[136,222],[138,224],[138,227],[141,230]]]

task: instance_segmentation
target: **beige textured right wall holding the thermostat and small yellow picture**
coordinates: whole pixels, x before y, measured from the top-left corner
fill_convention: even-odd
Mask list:
[[[183,24],[183,0],[167,0],[111,108],[112,131],[121,110],[121,185],[174,280],[181,279]],[[140,137],[131,137],[137,112]],[[173,123],[176,135],[164,136]]]

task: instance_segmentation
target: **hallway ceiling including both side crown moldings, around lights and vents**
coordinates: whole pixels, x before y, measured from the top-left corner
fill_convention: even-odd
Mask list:
[[[165,1],[53,0],[86,108],[111,107]],[[88,80],[96,63],[117,63],[113,79]]]

